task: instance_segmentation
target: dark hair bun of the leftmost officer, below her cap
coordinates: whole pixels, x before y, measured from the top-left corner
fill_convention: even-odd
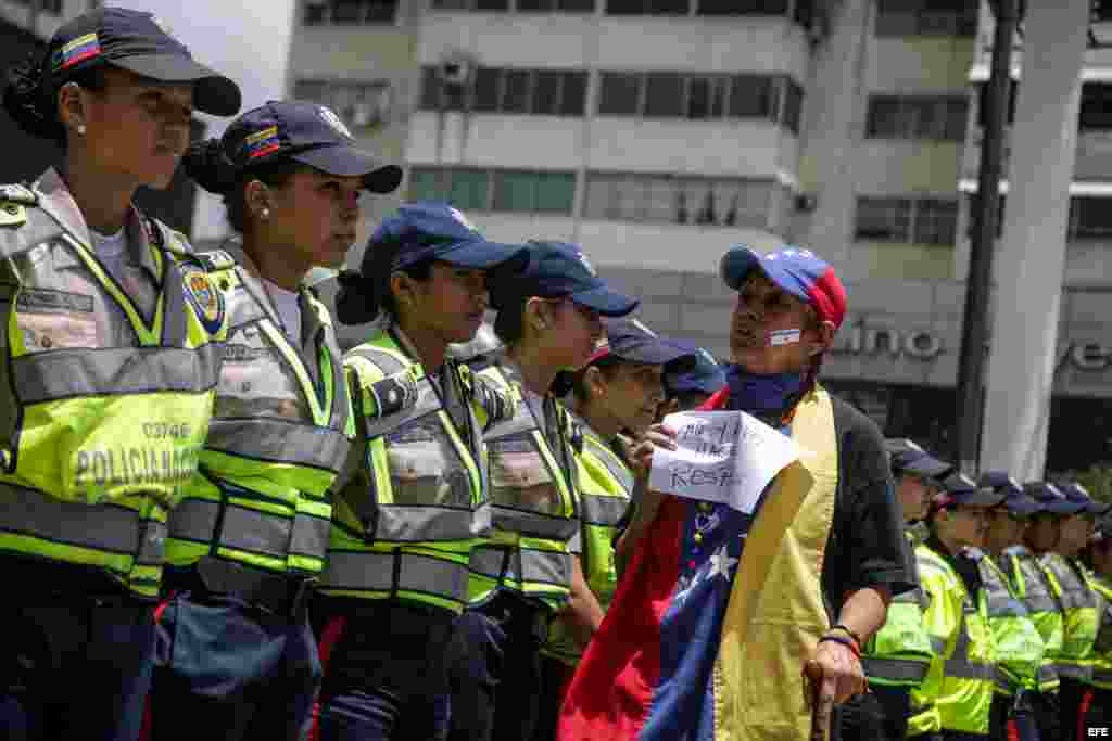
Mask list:
[[[40,49],[8,69],[3,89],[3,108],[20,129],[40,139],[52,139],[66,146],[66,127],[58,120],[58,90],[47,86],[46,51]],[[70,76],[64,82],[77,82],[86,90],[105,89],[105,68],[96,66]]]

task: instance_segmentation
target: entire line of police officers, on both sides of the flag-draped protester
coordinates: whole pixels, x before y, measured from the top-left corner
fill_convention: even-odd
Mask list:
[[[334,112],[270,102],[186,154],[239,261],[131,206],[169,182],[193,107],[239,103],[137,11],[85,13],[11,70],[6,110],[66,156],[0,192],[0,724],[550,741],[654,422],[722,369],[629,319],[579,247],[492,242],[446,203],[403,207],[341,273],[336,318],[377,318],[341,357],[299,283],[400,171]],[[492,308],[497,352],[453,351]],[[842,737],[1106,724],[1102,508],[892,452],[922,587],[870,640]]]

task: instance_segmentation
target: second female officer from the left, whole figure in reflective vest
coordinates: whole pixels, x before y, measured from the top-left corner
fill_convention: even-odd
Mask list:
[[[189,718],[207,738],[298,739],[320,680],[306,598],[353,435],[331,319],[299,284],[316,266],[342,264],[360,190],[390,192],[401,170],[305,102],[244,113],[185,167],[224,196],[244,264],[203,256],[225,296],[228,344],[200,474],[170,518],[153,733]]]

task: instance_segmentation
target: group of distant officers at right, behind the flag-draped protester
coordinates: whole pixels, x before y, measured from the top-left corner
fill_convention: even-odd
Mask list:
[[[854,731],[1073,740],[1112,725],[1110,507],[1075,482],[973,481],[887,444],[921,587],[868,642]]]

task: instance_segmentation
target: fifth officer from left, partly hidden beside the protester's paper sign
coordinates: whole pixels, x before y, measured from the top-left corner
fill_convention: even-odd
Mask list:
[[[606,323],[606,337],[587,364],[572,378],[569,403],[582,431],[574,445],[580,528],[568,548],[575,554],[576,578],[588,589],[573,590],[568,605],[549,625],[542,648],[544,689],[535,741],[556,738],[564,689],[617,590],[618,524],[635,490],[646,485],[648,471],[632,468],[629,443],[619,435],[623,430],[635,440],[644,435],[664,399],[665,373],[694,367],[693,352],[662,340],[641,321],[614,320]]]

